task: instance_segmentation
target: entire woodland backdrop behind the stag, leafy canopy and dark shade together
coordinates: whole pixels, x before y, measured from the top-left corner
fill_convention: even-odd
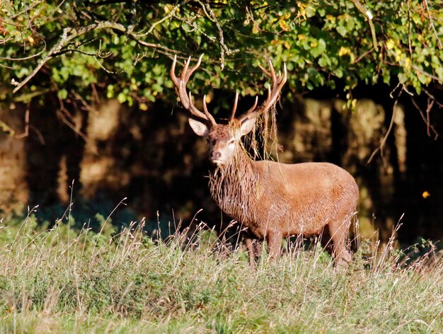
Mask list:
[[[188,88],[219,118],[234,91],[239,110],[263,96],[258,64],[287,65],[279,142],[262,149],[355,175],[363,236],[400,222],[404,243],[442,238],[442,1],[0,4],[1,217],[38,205],[55,221],[72,203],[79,227],[117,207],[117,226],[223,230],[169,76],[204,53]]]

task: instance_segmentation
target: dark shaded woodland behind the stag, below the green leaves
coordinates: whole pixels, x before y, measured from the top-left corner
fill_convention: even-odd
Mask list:
[[[408,99],[398,103],[392,118],[392,110],[380,99],[383,91],[386,87],[365,91],[369,96],[362,95],[355,110],[331,98],[332,92],[282,99],[277,114],[282,151],[273,158],[284,163],[330,161],[350,171],[360,188],[358,216],[366,237],[377,236],[374,231],[379,230],[386,241],[401,221],[400,241],[439,240],[443,143],[427,136],[426,123]],[[225,94],[217,92],[212,103]],[[239,108],[248,102],[243,100]],[[200,221],[216,229],[229,224],[209,197],[207,175],[214,166],[207,159],[206,143],[193,134],[188,113],[178,105],[157,101],[143,111],[103,98],[90,110],[74,101],[62,112],[56,104],[57,99],[48,97],[42,105],[28,105],[28,125],[26,105],[1,110],[17,134],[28,132],[19,139],[1,135],[4,214],[23,214],[28,206],[39,205],[37,216],[55,221],[72,201],[72,214],[82,226],[96,213],[106,216],[127,197],[127,206],[111,217],[117,225],[142,217],[149,231],[159,221],[163,229],[180,221],[182,227]],[[74,120],[74,129],[64,117]],[[368,163],[391,120],[381,155]],[[439,114],[433,113],[432,120],[438,132]]]

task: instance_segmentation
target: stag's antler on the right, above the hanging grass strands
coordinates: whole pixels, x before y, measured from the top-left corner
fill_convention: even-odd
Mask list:
[[[275,70],[274,67],[272,66],[271,60],[268,59],[267,62],[269,64],[270,71],[267,71],[265,68],[260,66],[260,64],[258,65],[258,67],[260,67],[260,69],[263,71],[264,74],[266,74],[272,79],[272,88],[271,85],[267,86],[267,98],[263,103],[263,105],[261,105],[259,108],[256,108],[257,98],[255,98],[255,104],[251,109],[249,109],[239,118],[240,121],[244,120],[251,113],[257,113],[258,115],[260,115],[269,110],[272,107],[272,105],[274,105],[274,103],[277,102],[280,95],[280,91],[282,90],[282,87],[286,83],[287,80],[286,64],[283,64],[283,75],[280,71],[278,72],[278,75],[275,75]]]

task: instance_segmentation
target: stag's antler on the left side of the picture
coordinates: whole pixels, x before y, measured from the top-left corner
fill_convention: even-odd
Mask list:
[[[188,81],[190,79],[190,76],[192,73],[195,72],[198,67],[200,67],[200,63],[202,62],[203,54],[199,57],[197,64],[195,64],[194,67],[189,67],[189,64],[191,62],[191,57],[188,58],[188,61],[185,62],[185,66],[183,67],[183,70],[180,74],[180,78],[176,76],[176,63],[177,63],[177,55],[174,57],[174,61],[172,63],[171,67],[171,79],[173,83],[176,85],[176,91],[178,93],[178,97],[181,100],[181,103],[185,109],[188,109],[192,115],[195,115],[197,117],[202,118],[203,120],[209,121],[212,125],[216,125],[217,122],[215,122],[214,117],[208,112],[207,106],[206,106],[206,96],[203,98],[203,108],[205,113],[202,113],[200,110],[198,110],[194,103],[192,103],[191,93],[186,93],[186,84],[188,84]]]

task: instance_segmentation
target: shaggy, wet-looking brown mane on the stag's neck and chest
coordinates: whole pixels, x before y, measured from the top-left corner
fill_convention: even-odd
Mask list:
[[[253,208],[258,207],[260,178],[258,168],[238,146],[233,159],[218,166],[211,175],[209,189],[225,214],[248,226],[254,223]]]

